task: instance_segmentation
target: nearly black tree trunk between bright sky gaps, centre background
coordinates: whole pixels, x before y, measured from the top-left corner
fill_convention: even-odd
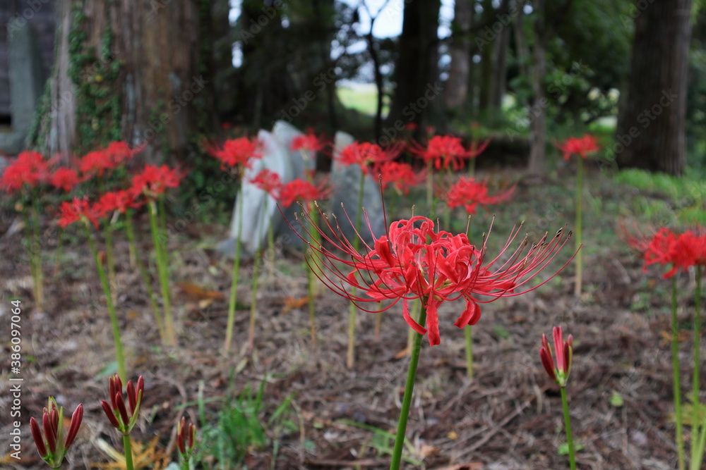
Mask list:
[[[441,0],[405,4],[400,56],[395,65],[397,88],[388,123],[402,130],[404,123],[424,128],[438,118],[437,98],[443,92],[438,79],[438,18]],[[437,122],[438,124],[438,122]]]

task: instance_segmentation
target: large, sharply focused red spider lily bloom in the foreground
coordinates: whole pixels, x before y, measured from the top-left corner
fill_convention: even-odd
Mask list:
[[[314,271],[323,273],[324,260],[332,261],[332,264],[326,264],[326,268],[333,276],[323,275],[323,278],[320,278],[322,282],[333,292],[356,304],[392,300],[390,305],[381,308],[382,311],[401,299],[405,321],[418,333],[429,333],[431,345],[441,342],[437,311],[443,302],[463,297],[466,308],[454,325],[463,328],[475,324],[481,315],[479,303],[529,292],[556,276],[558,271],[539,285],[520,289],[546,268],[569,238],[563,237],[564,230],[559,230],[551,240],[544,235],[542,240],[531,245],[523,255],[522,252],[528,245],[525,237],[507,261],[500,261],[501,256],[508,251],[508,247],[520,233],[520,225],[520,228],[510,235],[501,253],[486,262],[487,240],[484,240],[478,249],[470,244],[465,234],[435,232],[434,223],[429,218],[416,216],[409,220],[393,222],[388,233],[382,237],[376,238],[371,233],[375,239],[373,247],[366,245],[361,237],[365,248],[365,254],[361,254],[343,235],[337,222],[334,227],[321,211],[319,214],[321,220],[325,221],[323,227],[314,224],[311,216],[306,213],[304,218],[308,224],[303,225],[312,225],[313,230],[316,230],[323,240],[333,245],[333,249],[328,249],[323,245],[315,246],[309,243],[313,253],[310,262],[317,267]],[[304,230],[311,237],[306,226]],[[302,240],[307,241],[304,237]],[[341,271],[334,262],[347,266],[351,271]],[[345,285],[356,287],[358,292],[364,292],[365,296],[352,294]],[[491,298],[481,299],[481,295]],[[407,301],[417,298],[424,302],[427,309],[426,328],[409,316]]]

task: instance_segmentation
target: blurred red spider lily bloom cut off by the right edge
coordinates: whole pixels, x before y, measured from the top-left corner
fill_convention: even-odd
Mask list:
[[[661,228],[650,240],[632,240],[631,245],[644,252],[645,266],[651,264],[670,265],[664,278],[671,278],[681,268],[706,266],[706,230],[698,228],[677,234],[668,228]]]

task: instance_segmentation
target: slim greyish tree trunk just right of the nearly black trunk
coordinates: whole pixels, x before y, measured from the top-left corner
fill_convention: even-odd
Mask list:
[[[445,104],[450,111],[467,106],[471,65],[471,37],[473,27],[473,2],[457,0],[453,10],[451,30],[453,36],[449,47],[451,65],[445,87]]]

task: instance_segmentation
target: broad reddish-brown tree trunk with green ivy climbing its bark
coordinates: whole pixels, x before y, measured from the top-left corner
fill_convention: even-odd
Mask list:
[[[148,161],[184,157],[215,128],[209,16],[196,0],[59,0],[35,146],[70,158],[124,140]]]

